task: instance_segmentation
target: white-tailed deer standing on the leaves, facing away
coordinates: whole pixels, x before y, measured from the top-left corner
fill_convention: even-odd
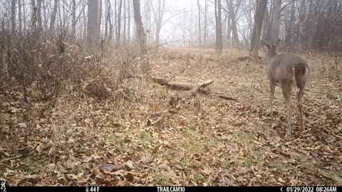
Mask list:
[[[279,39],[280,41],[280,39]],[[274,96],[275,86],[281,87],[283,95],[285,97],[285,103],[287,107],[287,129],[286,137],[291,136],[291,119],[292,110],[294,105],[291,100],[291,87],[296,86],[296,92],[298,97],[298,108],[299,108],[299,124],[301,129],[304,129],[303,124],[303,95],[304,87],[306,85],[309,68],[306,61],[291,53],[281,53],[277,51],[277,46],[261,40],[261,45],[267,50],[267,75],[269,78],[269,85],[271,87],[271,95],[269,98],[269,112],[272,111],[272,102]]]

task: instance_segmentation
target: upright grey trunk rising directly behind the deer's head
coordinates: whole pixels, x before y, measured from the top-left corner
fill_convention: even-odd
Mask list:
[[[279,30],[280,30],[280,9],[281,0],[273,1],[273,16],[272,16],[272,26],[271,26],[271,43],[276,44],[279,40]]]

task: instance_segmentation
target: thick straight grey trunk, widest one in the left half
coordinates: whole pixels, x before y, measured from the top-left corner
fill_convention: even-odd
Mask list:
[[[88,43],[95,43],[98,40],[98,2],[88,0]]]

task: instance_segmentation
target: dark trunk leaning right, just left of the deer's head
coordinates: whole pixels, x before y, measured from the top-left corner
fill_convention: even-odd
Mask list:
[[[262,23],[264,21],[266,5],[267,0],[259,0],[259,3],[257,4],[257,10],[255,11],[253,33],[251,38],[251,49],[249,51],[251,57],[253,58],[259,58],[258,50],[260,43],[260,33]]]

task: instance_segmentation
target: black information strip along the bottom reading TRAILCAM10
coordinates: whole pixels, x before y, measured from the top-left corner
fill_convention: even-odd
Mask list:
[[[2,189],[2,188],[1,188]],[[190,191],[279,191],[279,192],[342,192],[341,186],[6,186],[6,192],[16,191],[153,191],[153,192],[190,192]],[[3,192],[0,190],[0,192]]]

